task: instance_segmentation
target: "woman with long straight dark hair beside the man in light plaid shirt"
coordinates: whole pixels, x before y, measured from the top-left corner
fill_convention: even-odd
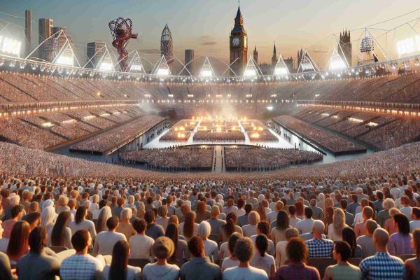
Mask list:
[[[128,265],[130,246],[120,240],[113,247],[111,265],[105,265],[104,280],[141,280],[141,268]]]

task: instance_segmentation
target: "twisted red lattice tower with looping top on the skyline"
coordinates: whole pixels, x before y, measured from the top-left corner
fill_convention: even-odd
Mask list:
[[[114,39],[112,45],[117,49],[118,55],[120,55],[118,60],[120,62],[121,71],[125,72],[127,71],[128,58],[128,52],[125,50],[125,46],[130,38],[137,38],[137,33],[132,34],[133,23],[130,18],[117,18],[116,20],[109,22],[108,25]]]

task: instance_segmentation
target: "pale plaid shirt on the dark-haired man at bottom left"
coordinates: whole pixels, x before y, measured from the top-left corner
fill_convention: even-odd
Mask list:
[[[62,280],[92,280],[102,269],[101,262],[92,255],[71,255],[62,261],[59,276]]]

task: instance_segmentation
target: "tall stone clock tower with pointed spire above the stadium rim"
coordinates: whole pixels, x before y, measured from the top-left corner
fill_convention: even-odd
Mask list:
[[[229,45],[230,64],[234,62],[230,68],[237,74],[237,76],[242,76],[244,75],[244,69],[248,60],[248,37],[246,36],[244,18],[242,18],[241,9],[239,6],[237,16],[235,18],[235,26],[233,27],[232,31],[230,31]],[[231,75],[235,75],[235,73],[230,71]]]

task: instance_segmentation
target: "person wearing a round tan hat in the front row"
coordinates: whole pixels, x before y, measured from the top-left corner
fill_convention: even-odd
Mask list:
[[[174,254],[174,242],[168,237],[158,237],[152,247],[153,254],[158,261],[149,263],[143,269],[143,280],[177,280],[179,267],[170,265],[167,259]]]

